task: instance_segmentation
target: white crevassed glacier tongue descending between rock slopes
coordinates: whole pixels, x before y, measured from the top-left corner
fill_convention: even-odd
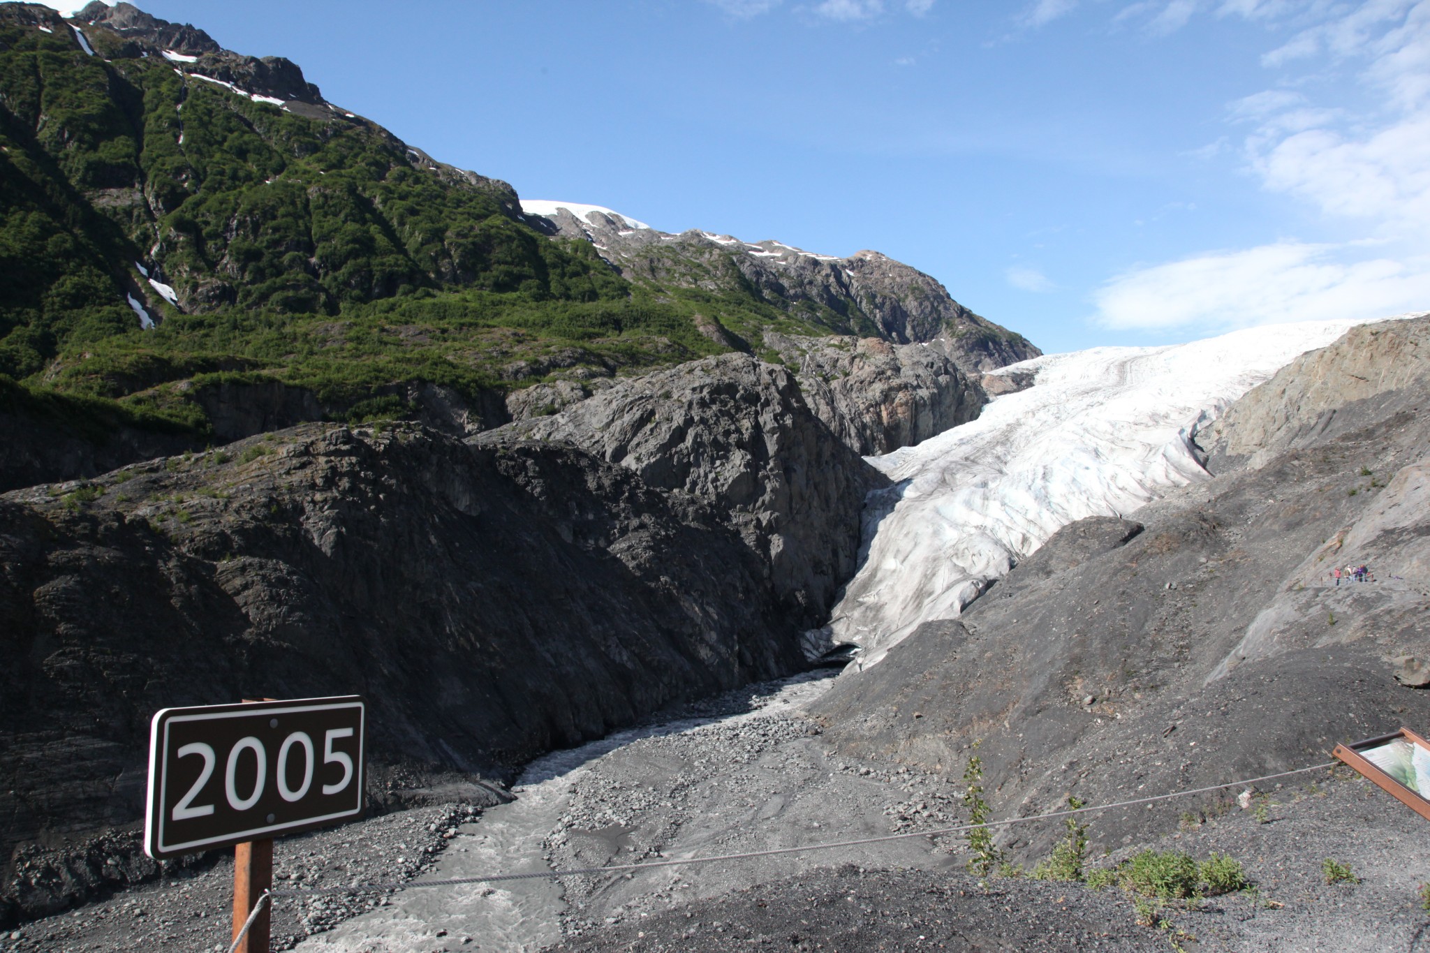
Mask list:
[[[884,657],[922,622],[952,619],[1060,527],[1125,516],[1208,479],[1188,441],[1297,354],[1358,321],[1256,327],[1167,347],[1095,347],[1004,369],[1032,387],[914,447],[868,461],[867,553],[831,614],[834,643]]]

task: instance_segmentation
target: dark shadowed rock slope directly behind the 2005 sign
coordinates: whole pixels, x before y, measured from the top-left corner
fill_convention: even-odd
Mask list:
[[[831,460],[779,440],[827,479],[814,464]],[[819,504],[766,464],[785,467],[784,499]],[[829,516],[789,512],[785,533]],[[784,674],[801,664],[797,550],[771,570],[725,512],[573,447],[413,424],[305,424],[3,494],[0,856],[134,822],[166,706],[360,693],[379,767],[502,779]],[[0,916],[69,902],[4,883]]]

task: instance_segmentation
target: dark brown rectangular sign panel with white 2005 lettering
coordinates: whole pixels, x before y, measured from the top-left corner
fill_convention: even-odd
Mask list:
[[[159,712],[144,852],[174,857],[360,817],[366,726],[359,696]]]

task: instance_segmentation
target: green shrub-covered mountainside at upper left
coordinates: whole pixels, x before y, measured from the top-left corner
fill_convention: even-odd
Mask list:
[[[54,13],[0,4],[0,374],[77,399],[51,414],[204,433],[196,389],[263,379],[330,414],[400,413],[409,381],[472,397],[726,350],[696,316],[818,330],[754,293],[632,287],[519,221],[505,183],[326,104],[255,101],[200,77],[207,56],[84,34],[99,56]]]

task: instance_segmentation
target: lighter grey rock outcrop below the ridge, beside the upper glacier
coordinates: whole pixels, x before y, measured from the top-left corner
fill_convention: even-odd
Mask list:
[[[878,337],[765,334],[798,367],[805,401],[862,456],[888,453],[967,423],[987,397],[944,351]]]

